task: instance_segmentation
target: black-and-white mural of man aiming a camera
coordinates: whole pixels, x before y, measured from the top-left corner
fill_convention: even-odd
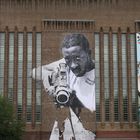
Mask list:
[[[88,39],[79,33],[67,34],[61,42],[63,58],[34,68],[32,77],[42,80],[46,93],[53,98],[57,108],[69,108],[63,131],[57,120],[50,140],[60,138],[95,139],[95,134],[84,128],[80,113],[83,108],[95,112],[95,63],[91,57]],[[40,76],[41,75],[41,76]]]

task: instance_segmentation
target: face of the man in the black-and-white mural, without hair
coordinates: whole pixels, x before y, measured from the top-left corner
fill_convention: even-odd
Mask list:
[[[62,54],[71,71],[81,77],[86,73],[89,54],[80,46],[62,48]]]

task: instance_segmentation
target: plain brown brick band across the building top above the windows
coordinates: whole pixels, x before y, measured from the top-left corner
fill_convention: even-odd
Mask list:
[[[42,19],[92,19],[96,22],[96,30],[111,26],[114,30],[131,27],[134,31],[134,21],[140,19],[140,2],[137,0],[40,0],[36,3],[1,0],[0,4],[0,29],[18,26],[23,30],[27,26],[31,30],[36,26],[41,30]]]

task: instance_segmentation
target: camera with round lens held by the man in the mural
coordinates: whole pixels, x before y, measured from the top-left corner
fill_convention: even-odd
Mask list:
[[[60,63],[58,69],[57,86],[53,93],[55,101],[59,105],[67,105],[70,100],[71,90],[67,85],[66,64]]]

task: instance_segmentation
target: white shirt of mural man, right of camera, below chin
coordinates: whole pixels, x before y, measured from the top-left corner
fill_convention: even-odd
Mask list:
[[[90,111],[95,111],[95,70],[86,72],[82,77],[76,77],[69,72],[69,86],[76,91],[76,96]]]

